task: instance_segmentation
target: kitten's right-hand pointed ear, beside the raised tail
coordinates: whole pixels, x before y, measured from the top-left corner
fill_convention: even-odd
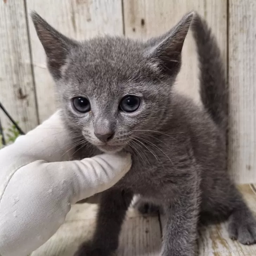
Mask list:
[[[164,36],[148,41],[151,49],[147,51],[147,57],[153,64],[153,69],[160,71],[163,75],[175,75],[179,72],[181,50],[193,16],[194,12],[187,13]]]

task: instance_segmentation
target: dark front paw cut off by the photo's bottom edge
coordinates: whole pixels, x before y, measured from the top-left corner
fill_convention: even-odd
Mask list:
[[[76,251],[74,256],[110,256],[111,252],[106,248],[94,245],[92,243],[84,243]]]

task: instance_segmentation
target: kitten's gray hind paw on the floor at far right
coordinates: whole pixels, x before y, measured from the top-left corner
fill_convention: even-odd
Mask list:
[[[256,219],[249,209],[235,211],[229,217],[229,237],[242,244],[256,243]]]

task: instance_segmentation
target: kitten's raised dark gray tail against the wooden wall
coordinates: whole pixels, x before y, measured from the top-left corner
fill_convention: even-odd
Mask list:
[[[228,124],[228,94],[222,56],[206,21],[195,13],[192,32],[200,65],[200,96],[213,121],[224,131]]]

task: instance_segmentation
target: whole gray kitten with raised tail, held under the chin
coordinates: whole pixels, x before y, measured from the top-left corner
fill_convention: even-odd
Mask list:
[[[220,50],[205,21],[188,13],[146,42],[97,37],[77,42],[38,14],[32,19],[55,79],[63,120],[79,158],[129,151],[133,165],[103,193],[91,242],[76,256],[109,256],[133,195],[161,205],[161,256],[192,256],[199,216],[229,218],[229,234],[256,242],[256,222],[227,172],[227,94]],[[174,92],[181,50],[192,23],[204,109]]]

